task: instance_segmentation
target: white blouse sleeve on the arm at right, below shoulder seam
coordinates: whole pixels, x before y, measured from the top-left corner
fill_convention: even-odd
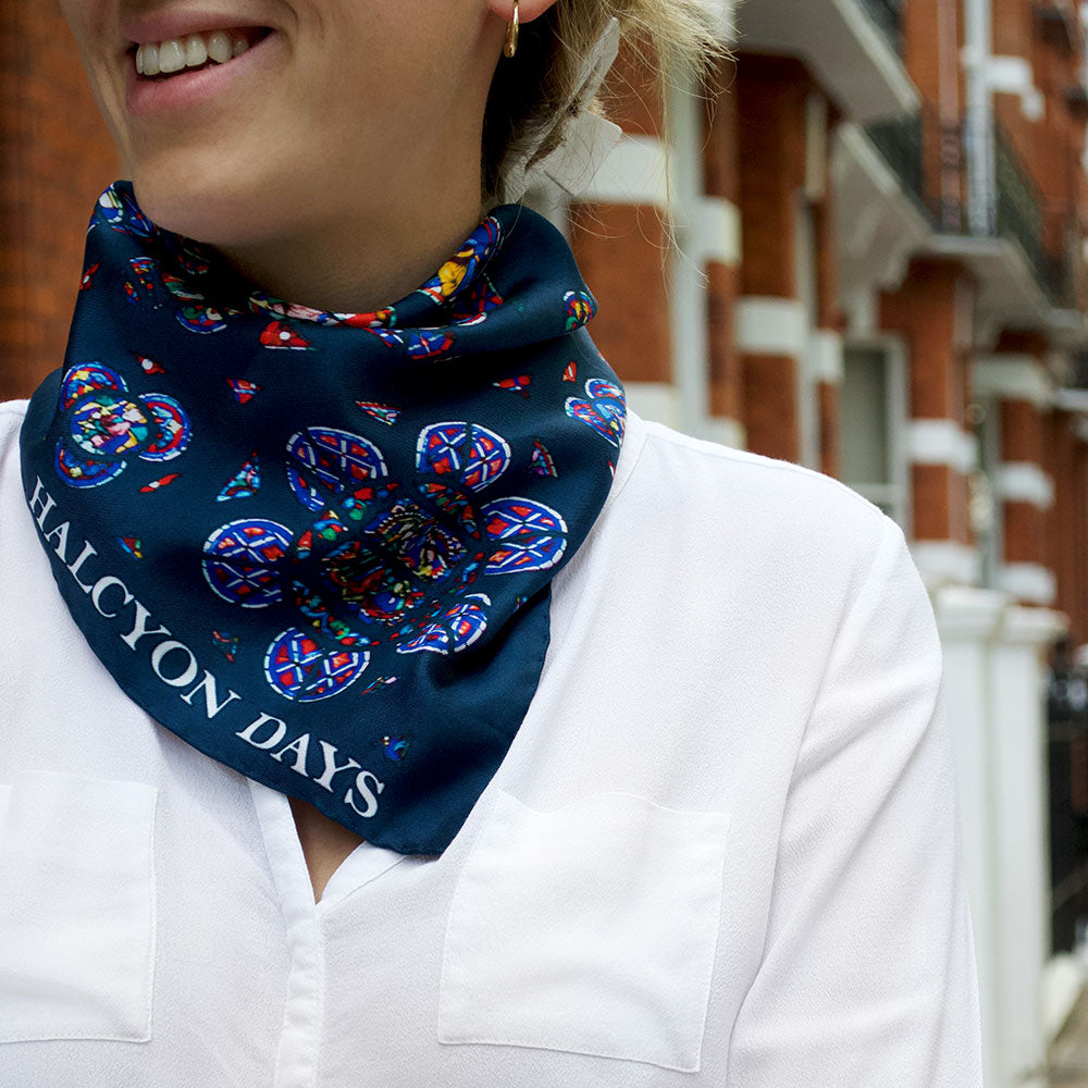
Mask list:
[[[798,752],[727,1088],[981,1088],[941,669],[928,594],[889,521]]]

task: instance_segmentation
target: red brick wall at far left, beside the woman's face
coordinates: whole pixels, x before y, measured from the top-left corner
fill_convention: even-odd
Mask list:
[[[95,198],[120,174],[67,27],[12,0],[0,36],[0,399],[61,366]]]

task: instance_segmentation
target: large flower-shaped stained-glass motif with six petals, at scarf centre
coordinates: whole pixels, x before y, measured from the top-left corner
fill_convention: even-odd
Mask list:
[[[263,519],[232,521],[205,545],[205,574],[244,607],[285,601],[297,627],[269,644],[265,676],[284,697],[327,698],[358,677],[366,647],[455,654],[484,634],[492,598],[469,592],[481,574],[556,566],[562,516],[535,499],[479,505],[511,463],[509,444],[477,423],[424,426],[418,477],[387,479],[382,452],[335,428],[308,428],[287,443],[295,497],[318,517],[293,532]]]

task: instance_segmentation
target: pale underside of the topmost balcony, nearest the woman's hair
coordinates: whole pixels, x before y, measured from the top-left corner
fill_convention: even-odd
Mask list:
[[[749,0],[737,5],[737,48],[796,57],[853,121],[918,108],[902,61],[899,0]]]

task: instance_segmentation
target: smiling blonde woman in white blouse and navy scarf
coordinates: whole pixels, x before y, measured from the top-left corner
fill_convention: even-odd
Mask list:
[[[0,1083],[979,1085],[902,533],[626,412],[490,196],[697,4],[64,8],[133,182],[0,416]]]

